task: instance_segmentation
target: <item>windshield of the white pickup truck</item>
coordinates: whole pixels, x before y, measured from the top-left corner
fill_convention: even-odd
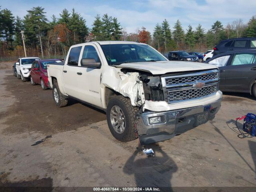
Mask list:
[[[141,44],[108,44],[101,45],[108,65],[130,62],[166,61],[162,54],[148,45]]]

